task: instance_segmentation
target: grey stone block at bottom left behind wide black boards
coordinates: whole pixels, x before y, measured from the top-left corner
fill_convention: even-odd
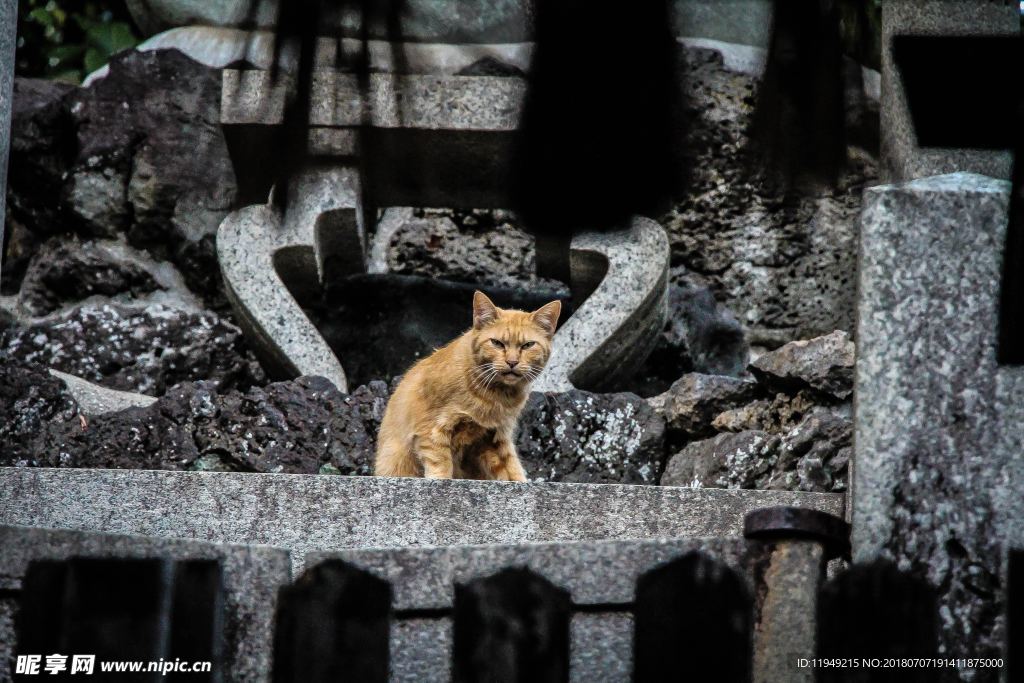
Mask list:
[[[10,670],[3,665],[12,653],[16,595],[29,562],[72,557],[220,560],[228,678],[232,681],[270,680],[278,589],[291,581],[287,551],[24,526],[0,526],[0,680],[9,680],[5,676]]]

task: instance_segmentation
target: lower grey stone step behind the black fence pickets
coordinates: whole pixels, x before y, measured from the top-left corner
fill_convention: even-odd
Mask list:
[[[525,567],[566,591],[570,598],[569,680],[626,682],[631,680],[633,669],[638,579],[666,562],[698,552],[731,569],[748,596],[762,595],[764,605],[781,605],[784,613],[761,608],[751,615],[756,670],[768,671],[761,664],[764,657],[757,654],[771,644],[771,637],[763,633],[794,618],[806,622],[806,628],[786,630],[794,656],[786,659],[785,675],[778,679],[783,680],[795,673],[794,657],[813,656],[814,623],[808,605],[813,604],[823,566],[817,544],[794,542],[788,546],[787,571],[781,583],[769,579],[771,571],[765,573],[765,567],[776,562],[779,549],[741,538],[356,548],[309,553],[306,562],[313,566],[341,559],[391,585],[391,681],[451,680],[456,584],[509,567]],[[225,673],[229,680],[271,678],[279,590],[293,579],[287,550],[24,526],[0,526],[0,644],[6,643],[0,646],[0,660],[13,653],[13,614],[31,561],[74,557],[217,559],[223,568],[225,594]]]

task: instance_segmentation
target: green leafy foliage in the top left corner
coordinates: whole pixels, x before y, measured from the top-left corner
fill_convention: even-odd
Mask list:
[[[124,0],[18,0],[18,76],[80,83],[137,43]]]

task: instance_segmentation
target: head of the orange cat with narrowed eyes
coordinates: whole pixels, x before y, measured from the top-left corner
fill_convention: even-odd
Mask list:
[[[525,386],[551,355],[560,301],[528,313],[499,308],[482,292],[473,295],[472,382],[480,387]]]

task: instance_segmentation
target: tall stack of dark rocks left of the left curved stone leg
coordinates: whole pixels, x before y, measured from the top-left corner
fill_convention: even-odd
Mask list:
[[[234,198],[220,76],[127,52],[88,88],[16,79],[0,356],[159,396],[266,383],[214,237]]]

